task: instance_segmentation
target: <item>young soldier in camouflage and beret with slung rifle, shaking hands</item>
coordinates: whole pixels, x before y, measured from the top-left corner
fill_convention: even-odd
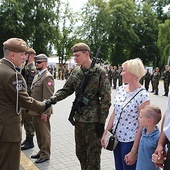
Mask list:
[[[72,71],[64,87],[58,90],[51,100],[56,103],[77,94],[85,72],[91,65],[90,48],[84,43],[72,47],[77,67]],[[110,83],[106,71],[95,64],[90,71],[90,79],[83,96],[89,102],[80,103],[82,114],[75,112],[75,142],[76,155],[81,164],[81,170],[100,170],[101,144],[100,140],[111,105]],[[54,104],[53,103],[53,104]]]

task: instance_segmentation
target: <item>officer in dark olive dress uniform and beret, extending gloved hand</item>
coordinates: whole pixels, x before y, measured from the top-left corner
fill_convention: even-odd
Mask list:
[[[26,59],[26,42],[10,38],[3,43],[0,60],[0,169],[19,170],[21,153],[21,108],[44,112],[50,104],[29,97],[23,76],[15,69]]]

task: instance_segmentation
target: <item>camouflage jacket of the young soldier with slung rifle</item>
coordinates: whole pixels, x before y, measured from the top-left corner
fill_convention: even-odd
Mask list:
[[[77,93],[83,80],[85,70],[80,66],[76,67],[64,87],[56,92],[57,101],[60,101],[67,96]],[[79,122],[105,123],[111,105],[110,83],[108,81],[106,71],[99,65],[95,65],[90,71],[90,79],[84,90],[83,96],[89,101],[97,100],[98,104],[82,105],[82,114],[75,113],[75,119]]]

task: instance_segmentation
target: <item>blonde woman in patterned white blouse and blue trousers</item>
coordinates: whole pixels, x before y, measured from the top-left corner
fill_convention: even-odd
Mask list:
[[[114,150],[114,158],[116,170],[135,170],[142,132],[142,128],[139,127],[138,116],[140,110],[145,105],[150,104],[150,100],[147,91],[139,83],[141,77],[146,73],[142,61],[139,58],[127,60],[122,64],[122,67],[123,85],[116,91],[114,110],[103,133],[101,144],[105,147],[106,131],[114,131],[122,108],[127,104],[123,108],[121,119],[116,129],[119,142]],[[137,95],[135,96],[135,94]],[[130,101],[131,98],[133,99]]]

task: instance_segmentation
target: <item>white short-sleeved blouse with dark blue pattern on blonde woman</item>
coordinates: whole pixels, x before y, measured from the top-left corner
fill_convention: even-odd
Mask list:
[[[143,87],[136,89],[133,92],[127,92],[125,90],[126,85],[122,85],[118,88],[114,98],[115,118],[113,122],[113,131],[119,119],[119,115],[122,108],[130,101],[131,98]],[[144,89],[140,91],[123,109],[123,113],[118,124],[116,134],[120,142],[134,141],[136,132],[138,130],[138,108],[141,104],[149,101],[149,95]]]

